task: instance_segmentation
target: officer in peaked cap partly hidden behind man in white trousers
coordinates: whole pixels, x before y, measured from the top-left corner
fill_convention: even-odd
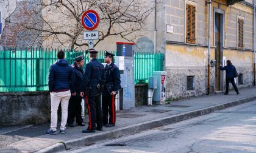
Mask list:
[[[84,69],[82,69],[82,66],[84,66],[85,58],[84,55],[77,56],[75,58],[74,63],[71,65],[73,67],[74,73],[76,75],[76,83],[75,83],[75,90],[76,95],[71,95],[71,98],[68,102],[68,126],[74,127],[74,118],[76,118],[76,123],[79,126],[85,126],[83,124],[83,118],[82,118],[82,97],[80,96],[81,92],[81,83],[84,75]]]

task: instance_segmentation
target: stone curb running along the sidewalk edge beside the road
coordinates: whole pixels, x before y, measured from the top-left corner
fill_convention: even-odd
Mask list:
[[[48,148],[42,149],[38,152],[45,152],[45,153],[59,152],[59,151],[65,151],[71,148],[89,146],[93,143],[96,143],[96,141],[118,138],[124,135],[136,134],[137,132],[146,131],[148,129],[164,126],[166,124],[177,123],[179,121],[188,120],[190,118],[210,114],[212,112],[215,112],[216,110],[226,109],[228,107],[237,106],[239,104],[248,103],[254,100],[256,100],[256,95],[254,97],[244,98],[244,99],[236,100],[229,103],[217,104],[215,106],[205,107],[197,110],[191,110],[190,112],[184,112],[182,114],[172,115],[170,117],[158,118],[152,121],[146,121],[139,124],[133,124],[131,126],[121,127],[113,131],[106,131],[106,132],[101,132],[99,134],[88,135],[82,138],[76,138],[74,140],[63,141],[63,142],[54,144],[52,146],[49,146]]]

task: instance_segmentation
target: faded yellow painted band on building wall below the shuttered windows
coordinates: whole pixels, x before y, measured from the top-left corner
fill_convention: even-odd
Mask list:
[[[253,52],[224,49],[223,56],[237,67],[252,67]],[[210,60],[215,59],[215,49],[211,49]],[[207,66],[208,48],[200,46],[166,45],[166,67]]]

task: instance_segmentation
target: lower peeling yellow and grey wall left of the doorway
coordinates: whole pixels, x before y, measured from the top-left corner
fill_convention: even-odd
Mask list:
[[[167,45],[167,98],[191,97],[206,94],[207,47]],[[212,55],[215,56],[212,51]],[[215,68],[211,67],[211,91],[214,91]],[[187,76],[194,76],[194,90],[187,90]]]

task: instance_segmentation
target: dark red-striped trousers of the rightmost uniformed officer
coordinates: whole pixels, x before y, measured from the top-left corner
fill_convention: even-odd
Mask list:
[[[108,114],[109,114],[109,123],[110,124],[116,123],[115,97],[116,95],[102,97],[103,124],[108,123]]]

